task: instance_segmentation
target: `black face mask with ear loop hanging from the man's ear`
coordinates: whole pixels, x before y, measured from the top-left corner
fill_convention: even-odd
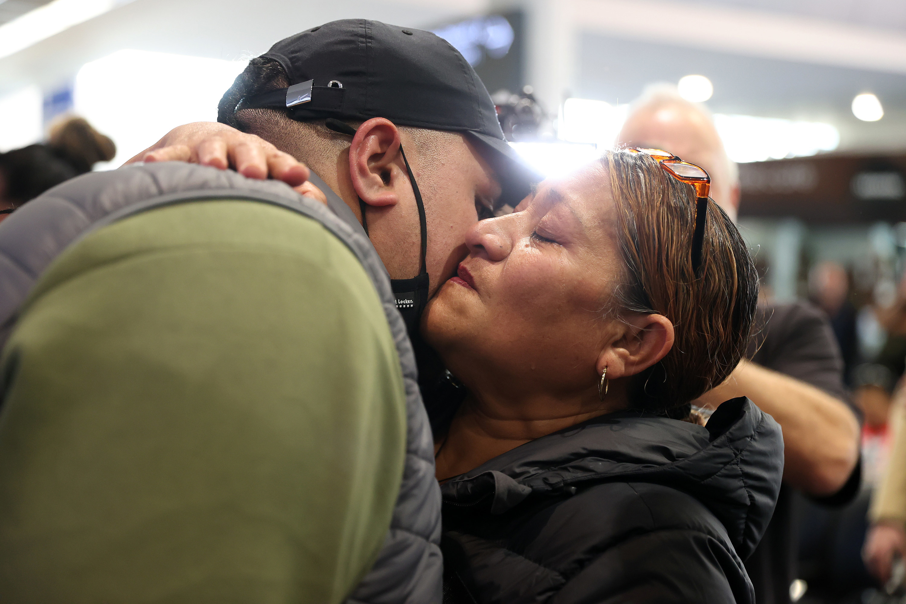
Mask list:
[[[324,125],[334,132],[355,136],[355,129],[341,120],[328,118]],[[409,174],[410,183],[412,183],[412,193],[415,194],[415,204],[419,208],[419,230],[421,232],[421,249],[419,253],[419,274],[411,279],[390,279],[390,288],[393,295],[396,296],[397,310],[400,311],[403,321],[406,323],[406,331],[409,332],[410,340],[413,343],[420,341],[419,322],[421,313],[425,311],[428,304],[428,290],[430,279],[428,276],[428,267],[425,257],[428,254],[428,223],[425,219],[425,204],[421,199],[419,185],[415,182],[415,175],[412,174],[412,168],[409,166],[409,159],[400,145],[400,154],[403,163],[406,164],[406,172]],[[361,226],[365,229],[365,235],[368,235],[368,221],[365,219],[365,203],[359,200],[361,207]]]

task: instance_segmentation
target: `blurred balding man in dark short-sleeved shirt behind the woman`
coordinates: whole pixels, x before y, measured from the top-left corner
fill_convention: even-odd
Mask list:
[[[708,111],[674,86],[652,87],[636,101],[618,144],[664,149],[711,175],[711,197],[736,219],[740,187]],[[790,601],[797,578],[795,492],[843,505],[858,493],[859,423],[843,387],[843,360],[823,313],[802,302],[761,307],[762,331],[703,407],[745,396],[783,428],[784,486],[774,518],[746,561],[760,604]],[[748,359],[748,360],[747,360]]]

